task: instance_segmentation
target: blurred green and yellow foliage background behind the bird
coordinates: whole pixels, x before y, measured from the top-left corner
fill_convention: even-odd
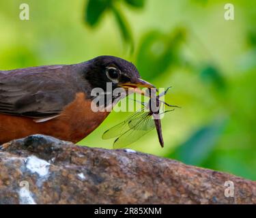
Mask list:
[[[130,149],[256,180],[255,22],[255,0],[1,0],[0,69],[128,59],[182,106],[162,120],[164,149],[155,131]],[[128,115],[112,112],[79,144],[111,149],[102,133]]]

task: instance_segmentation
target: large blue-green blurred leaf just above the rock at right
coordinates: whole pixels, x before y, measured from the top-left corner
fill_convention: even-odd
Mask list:
[[[201,127],[184,144],[178,146],[174,153],[167,155],[167,157],[178,159],[186,164],[199,166],[209,157],[218,138],[223,133],[226,123],[226,121],[214,122]]]

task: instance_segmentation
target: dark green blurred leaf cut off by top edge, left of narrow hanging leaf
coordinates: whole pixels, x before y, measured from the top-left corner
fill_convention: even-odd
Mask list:
[[[85,10],[85,21],[91,27],[95,26],[111,2],[112,0],[89,0]]]

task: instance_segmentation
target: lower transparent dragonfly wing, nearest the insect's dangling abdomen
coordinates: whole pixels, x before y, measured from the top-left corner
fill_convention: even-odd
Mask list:
[[[155,127],[154,119],[152,119],[152,116],[148,113],[141,117],[137,123],[135,123],[134,120],[131,122],[134,124],[134,126],[115,140],[113,144],[114,149],[124,148],[129,144],[132,144]]]

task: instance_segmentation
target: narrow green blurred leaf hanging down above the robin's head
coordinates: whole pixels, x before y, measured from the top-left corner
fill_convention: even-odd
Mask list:
[[[117,20],[119,29],[122,33],[122,37],[126,42],[130,43],[133,47],[132,34],[130,33],[130,27],[128,26],[128,22],[126,22],[126,19],[124,18],[124,15],[122,14],[121,10],[119,10],[115,5],[112,5],[111,8],[115,16],[115,19]]]

